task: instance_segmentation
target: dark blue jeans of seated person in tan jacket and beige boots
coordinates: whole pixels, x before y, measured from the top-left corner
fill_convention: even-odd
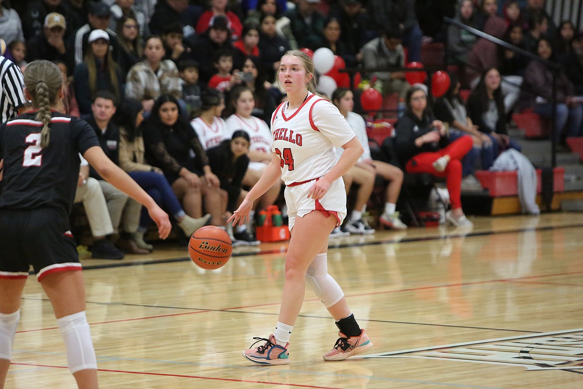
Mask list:
[[[130,171],[128,174],[161,208],[174,215],[175,218],[184,215],[184,209],[182,209],[170,183],[168,183],[163,174],[154,173],[153,171]],[[147,213],[147,208],[143,206],[140,227],[147,228],[150,222],[152,220]]]

